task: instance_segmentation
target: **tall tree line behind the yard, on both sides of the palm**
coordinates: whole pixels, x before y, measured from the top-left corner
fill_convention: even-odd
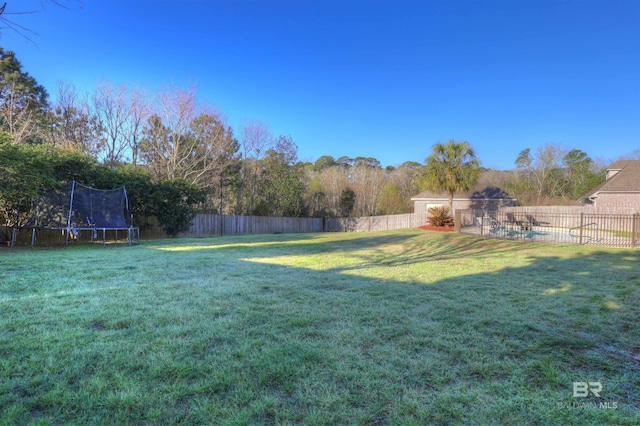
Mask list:
[[[56,91],[50,102],[15,53],[0,47],[0,214],[6,223],[18,195],[29,199],[71,178],[102,188],[126,185],[134,203],[139,197],[140,215],[162,215],[170,202],[190,214],[195,209],[296,217],[398,214],[412,211],[410,198],[420,191],[442,189],[437,179],[442,171],[429,159],[390,167],[370,157],[300,161],[290,135],[274,135],[258,120],[247,120],[234,132],[222,113],[198,101],[195,87],[150,93],[103,81],[86,94],[60,82]],[[39,163],[47,160],[47,167]],[[476,164],[475,179],[490,181],[525,204],[566,204],[604,178],[604,167],[586,153],[554,144],[525,149],[514,164],[508,171]],[[52,172],[24,178],[37,175],[36,169]],[[149,187],[132,192],[143,180]],[[175,194],[162,195],[161,188],[174,188]],[[149,194],[155,201],[145,198]],[[175,233],[186,225],[178,226],[180,215],[173,216],[173,224],[163,221]]]

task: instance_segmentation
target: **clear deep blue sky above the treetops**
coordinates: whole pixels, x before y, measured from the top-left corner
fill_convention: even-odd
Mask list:
[[[423,162],[466,140],[511,169],[547,143],[640,148],[640,0],[8,1],[0,43],[55,93],[196,84],[236,134],[260,120],[301,159]]]

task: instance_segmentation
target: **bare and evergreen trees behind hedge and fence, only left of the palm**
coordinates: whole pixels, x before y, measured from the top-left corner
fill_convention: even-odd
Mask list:
[[[420,190],[419,163],[383,169],[378,160],[364,157],[324,156],[303,162],[292,137],[272,134],[263,122],[245,121],[235,133],[220,112],[197,100],[194,87],[151,94],[127,84],[100,82],[87,95],[60,82],[56,89],[50,102],[46,89],[22,70],[14,52],[0,48],[3,184],[15,184],[8,161],[17,158],[16,152],[37,156],[34,150],[39,150],[50,162],[73,154],[74,161],[83,159],[92,169],[119,176],[121,181],[112,184],[126,184],[131,171],[154,183],[182,182],[184,188],[198,189],[196,207],[211,213],[403,213],[410,211],[409,198]],[[65,166],[56,167],[53,180],[32,182],[46,189],[71,178],[59,173]],[[9,182],[11,176],[15,179]],[[89,175],[76,173],[74,178],[95,183]],[[23,198],[33,197],[35,190],[25,187]],[[2,198],[8,212],[8,196]]]

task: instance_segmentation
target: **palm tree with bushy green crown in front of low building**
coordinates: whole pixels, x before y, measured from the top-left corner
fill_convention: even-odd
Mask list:
[[[449,209],[453,212],[453,196],[468,191],[480,175],[480,162],[468,142],[450,140],[433,146],[426,159],[426,187],[449,195]]]

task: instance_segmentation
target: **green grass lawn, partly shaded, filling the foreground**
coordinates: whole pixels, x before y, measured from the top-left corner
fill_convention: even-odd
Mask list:
[[[0,424],[640,422],[637,250],[404,230],[3,249],[0,271]]]

